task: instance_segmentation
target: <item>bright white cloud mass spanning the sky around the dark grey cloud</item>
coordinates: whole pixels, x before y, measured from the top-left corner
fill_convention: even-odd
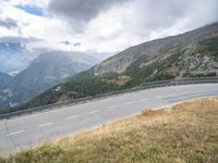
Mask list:
[[[110,5],[108,10],[97,8],[98,12],[87,20],[83,33],[76,33],[73,30],[72,21],[69,21],[72,15],[68,16],[68,13],[62,14],[66,18],[60,18],[57,14],[45,17],[14,7],[33,5],[43,8],[46,13],[50,11],[49,3],[49,0],[0,2],[0,18],[13,18],[17,24],[16,28],[0,27],[0,36],[38,38],[43,41],[33,46],[44,48],[114,52],[218,21],[217,0],[129,0],[119,5]],[[71,43],[64,45],[63,41]],[[73,46],[75,42],[81,45]]]

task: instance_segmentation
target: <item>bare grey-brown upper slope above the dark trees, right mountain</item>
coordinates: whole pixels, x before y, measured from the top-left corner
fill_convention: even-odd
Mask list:
[[[208,41],[213,42],[216,41],[216,38],[218,37],[217,26],[218,26],[217,23],[215,23],[213,25],[208,25],[182,35],[161,38],[135,47],[131,47],[120,52],[119,54],[111,57],[108,60],[96,65],[94,67],[95,73],[97,74],[104,74],[108,72],[122,73],[128,68],[128,66],[131,65],[131,63],[137,61],[141,58],[146,58],[145,63],[149,64],[147,62],[154,59],[165,60],[168,57],[178,53],[184,53],[187,55],[191,53],[196,54],[197,50],[201,50],[199,48],[202,48],[201,45],[208,46],[208,43],[210,43]],[[217,42],[214,43],[216,46]],[[191,58],[189,58],[187,60],[191,60]],[[195,68],[195,67],[190,67],[190,68]]]

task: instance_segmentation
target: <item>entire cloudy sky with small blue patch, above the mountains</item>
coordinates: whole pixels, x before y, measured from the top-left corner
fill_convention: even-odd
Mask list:
[[[218,0],[0,0],[0,41],[116,52],[218,21]]]

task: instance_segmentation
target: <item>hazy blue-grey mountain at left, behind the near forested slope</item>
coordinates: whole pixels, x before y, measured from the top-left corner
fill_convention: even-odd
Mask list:
[[[0,91],[9,91],[10,98],[7,98],[8,95],[2,97],[0,108],[25,102],[97,62],[98,60],[89,53],[68,51],[41,53],[25,70],[10,77],[8,82],[7,76],[9,75],[4,74],[5,77],[2,75],[5,85],[2,87],[0,85]]]

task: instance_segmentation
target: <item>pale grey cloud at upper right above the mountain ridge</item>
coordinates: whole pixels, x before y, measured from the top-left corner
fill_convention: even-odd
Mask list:
[[[121,11],[123,30],[148,38],[154,33],[193,29],[218,21],[217,0],[134,0]],[[123,32],[122,30],[122,32]],[[160,37],[160,36],[158,36]]]

